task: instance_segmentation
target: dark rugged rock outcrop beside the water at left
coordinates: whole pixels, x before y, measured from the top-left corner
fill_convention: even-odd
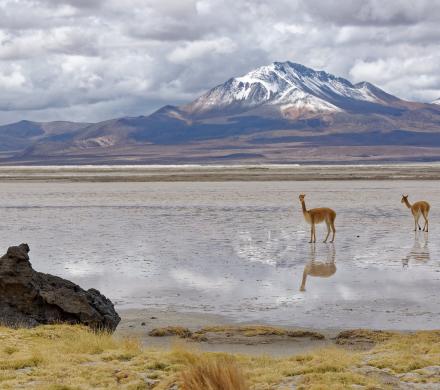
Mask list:
[[[13,326],[81,323],[115,330],[121,320],[113,303],[98,290],[83,290],[57,276],[36,272],[29,246],[10,247],[0,258],[0,322]]]

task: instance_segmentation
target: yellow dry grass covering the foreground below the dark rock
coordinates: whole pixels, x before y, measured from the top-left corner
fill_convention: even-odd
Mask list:
[[[386,388],[379,377],[359,368],[373,366],[401,374],[440,366],[440,332],[379,339],[368,351],[335,345],[272,358],[203,353],[188,346],[153,350],[143,348],[138,340],[118,339],[82,326],[0,328],[0,388],[165,390],[177,383],[184,389],[269,390],[288,388],[292,381],[298,389]],[[438,378],[431,375],[421,381],[435,383]]]

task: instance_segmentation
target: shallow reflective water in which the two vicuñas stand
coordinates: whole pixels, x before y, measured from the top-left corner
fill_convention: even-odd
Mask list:
[[[98,288],[118,308],[431,329],[440,315],[439,189],[436,181],[2,183],[0,246],[27,242],[34,268]],[[308,243],[300,192],[309,208],[338,213],[334,245]],[[430,201],[429,235],[413,232],[402,192]],[[318,241],[325,230],[318,226]],[[315,276],[300,291],[307,264]]]

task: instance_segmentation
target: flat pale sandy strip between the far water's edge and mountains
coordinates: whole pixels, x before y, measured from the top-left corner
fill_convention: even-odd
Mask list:
[[[0,181],[172,182],[283,180],[439,180],[440,164],[2,166]]]

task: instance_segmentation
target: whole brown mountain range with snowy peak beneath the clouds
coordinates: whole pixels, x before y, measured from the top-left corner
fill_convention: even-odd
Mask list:
[[[1,164],[337,163],[440,160],[440,99],[274,62],[193,102],[99,123],[0,126]]]

